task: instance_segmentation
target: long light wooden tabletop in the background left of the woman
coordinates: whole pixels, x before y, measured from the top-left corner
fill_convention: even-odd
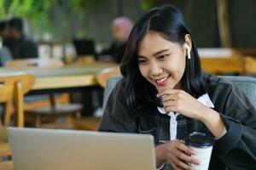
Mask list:
[[[105,68],[118,67],[113,63],[94,63],[90,65],[67,65],[59,68],[23,67],[0,68],[0,74],[26,71],[37,79],[32,90],[77,88],[96,85],[96,74]]]

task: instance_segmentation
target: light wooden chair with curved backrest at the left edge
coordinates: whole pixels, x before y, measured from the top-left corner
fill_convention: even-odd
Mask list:
[[[3,105],[3,123],[0,123],[0,169],[14,169],[12,161],[2,161],[3,156],[11,156],[6,127],[13,111],[15,126],[24,126],[23,95],[32,88],[35,78],[26,73],[0,74],[0,82],[0,103]]]

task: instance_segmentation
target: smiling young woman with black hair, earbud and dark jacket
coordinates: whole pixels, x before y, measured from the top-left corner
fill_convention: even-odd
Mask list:
[[[195,42],[172,6],[137,20],[100,131],[154,135],[158,167],[200,164],[183,139],[194,131],[215,137],[209,169],[256,166],[256,111],[247,97],[219,77],[201,72]]]

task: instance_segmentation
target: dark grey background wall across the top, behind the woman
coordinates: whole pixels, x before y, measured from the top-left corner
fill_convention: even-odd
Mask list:
[[[197,47],[221,47],[218,18],[217,0],[95,0],[96,5],[86,8],[85,17],[79,18],[78,14],[69,17],[70,30],[64,33],[62,39],[76,37],[77,32],[84,32],[84,37],[93,38],[96,42],[106,43],[112,41],[111,22],[120,15],[128,16],[136,21],[143,14],[143,3],[148,8],[169,3],[180,8]],[[255,0],[227,0],[228,20],[230,27],[231,47],[256,48],[256,1]],[[58,9],[59,8],[59,9]],[[55,27],[61,25],[61,20],[67,20],[71,15],[67,10],[55,7],[52,19]],[[56,12],[57,11],[57,12]],[[66,37],[65,37],[66,36]]]

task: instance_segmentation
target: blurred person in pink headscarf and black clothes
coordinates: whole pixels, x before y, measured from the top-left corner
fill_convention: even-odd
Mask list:
[[[130,35],[133,22],[127,17],[118,17],[112,22],[112,32],[114,41],[110,48],[104,49],[101,54],[111,55],[113,60],[120,63],[123,54],[125,53],[125,46]]]

